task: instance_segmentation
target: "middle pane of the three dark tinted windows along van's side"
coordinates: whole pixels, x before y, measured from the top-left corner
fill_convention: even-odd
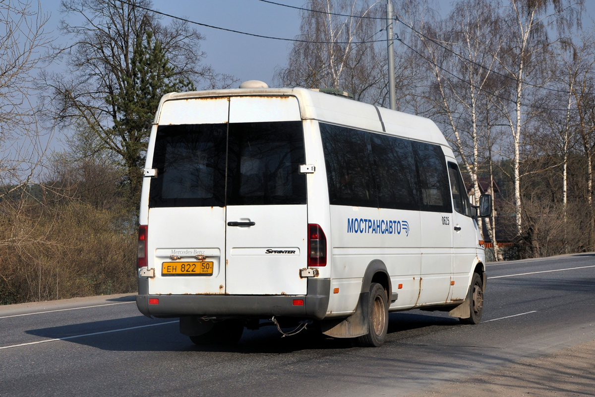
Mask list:
[[[397,210],[419,210],[419,186],[411,140],[370,134],[378,205]]]

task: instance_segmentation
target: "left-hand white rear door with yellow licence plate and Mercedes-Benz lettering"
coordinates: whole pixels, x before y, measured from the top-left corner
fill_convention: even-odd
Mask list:
[[[228,98],[162,107],[149,190],[151,294],[225,293],[228,112]]]

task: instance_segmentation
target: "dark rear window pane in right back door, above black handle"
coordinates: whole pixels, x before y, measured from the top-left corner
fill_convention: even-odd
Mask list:
[[[229,124],[227,205],[306,204],[302,123]]]

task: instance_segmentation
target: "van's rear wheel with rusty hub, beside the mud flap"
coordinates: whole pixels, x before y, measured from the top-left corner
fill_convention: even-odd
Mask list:
[[[386,333],[389,329],[389,304],[386,291],[378,283],[372,283],[370,286],[368,326],[368,334],[359,336],[358,344],[367,347],[381,346],[386,340]]]

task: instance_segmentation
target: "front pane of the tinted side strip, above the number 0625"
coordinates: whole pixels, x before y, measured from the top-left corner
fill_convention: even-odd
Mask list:
[[[449,177],[442,149],[431,143],[413,143],[419,177],[421,211],[452,212]]]

